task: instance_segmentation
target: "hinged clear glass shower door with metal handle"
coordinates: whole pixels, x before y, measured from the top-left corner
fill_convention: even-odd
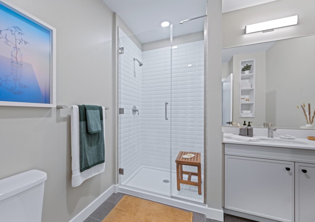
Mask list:
[[[170,196],[170,27],[118,36],[119,184]]]

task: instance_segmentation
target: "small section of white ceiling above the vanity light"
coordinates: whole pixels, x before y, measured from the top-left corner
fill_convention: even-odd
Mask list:
[[[276,0],[222,0],[222,13],[273,1]]]

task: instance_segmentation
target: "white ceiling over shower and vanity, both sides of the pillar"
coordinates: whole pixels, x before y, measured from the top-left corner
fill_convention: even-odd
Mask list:
[[[161,28],[161,22],[173,24],[173,36],[203,31],[203,19],[184,24],[180,21],[206,14],[207,0],[103,0],[127,24],[139,34]],[[222,12],[246,8],[275,0],[222,0]],[[177,25],[176,25],[177,24]],[[137,35],[141,43],[169,38],[169,28]]]

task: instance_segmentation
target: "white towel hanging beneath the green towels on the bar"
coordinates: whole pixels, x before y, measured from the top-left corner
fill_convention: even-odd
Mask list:
[[[105,108],[103,108],[104,140],[105,140]],[[104,141],[105,144],[105,141]],[[79,186],[83,181],[105,171],[105,162],[80,172],[79,146],[79,106],[72,106],[71,111],[71,156],[72,156],[72,187]]]

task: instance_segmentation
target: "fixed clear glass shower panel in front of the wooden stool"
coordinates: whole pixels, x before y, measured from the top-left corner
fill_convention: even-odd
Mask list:
[[[173,25],[171,78],[171,196],[204,203],[204,23],[206,17]],[[201,187],[198,190],[197,166],[182,165],[179,174],[189,185],[177,189],[176,157],[184,151],[199,156]],[[196,158],[196,157],[195,157]],[[193,159],[193,158],[191,158]],[[190,164],[190,163],[188,163]],[[192,172],[189,175],[188,172]],[[185,183],[185,182],[184,182]],[[201,194],[198,194],[201,193]]]

